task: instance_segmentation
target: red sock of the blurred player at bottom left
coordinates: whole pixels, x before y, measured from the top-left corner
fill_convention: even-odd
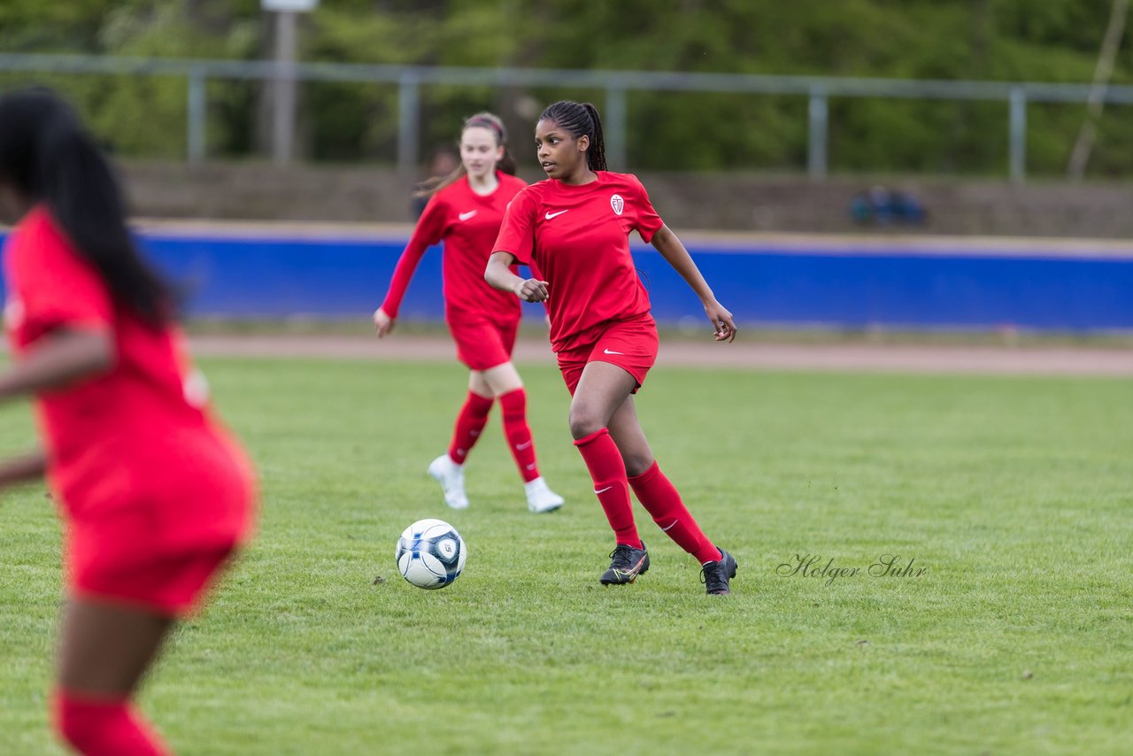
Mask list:
[[[56,731],[83,756],[170,756],[128,700],[99,700],[58,690]]]

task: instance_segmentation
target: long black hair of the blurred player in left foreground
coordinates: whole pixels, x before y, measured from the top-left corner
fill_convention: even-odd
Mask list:
[[[51,91],[0,97],[0,178],[46,205],[114,301],[153,328],[173,316],[172,289],[143,261],[126,227],[110,163]]]

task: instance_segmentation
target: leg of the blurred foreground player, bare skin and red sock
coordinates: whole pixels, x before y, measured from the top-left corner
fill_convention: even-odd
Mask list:
[[[130,698],[173,620],[146,610],[84,598],[65,610],[54,724],[87,756],[171,753]]]

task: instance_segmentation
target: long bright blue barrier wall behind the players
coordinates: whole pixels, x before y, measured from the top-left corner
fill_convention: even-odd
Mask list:
[[[188,284],[189,314],[365,317],[380,304],[402,238],[298,238],[148,231],[156,264]],[[949,248],[949,244],[955,248]],[[689,241],[717,297],[741,323],[922,329],[1133,329],[1133,244],[1049,241],[979,248],[863,239],[806,244]],[[650,247],[636,247],[654,314],[702,318],[689,288]],[[440,320],[441,254],[425,255],[402,320]],[[528,307],[540,317],[538,306]]]

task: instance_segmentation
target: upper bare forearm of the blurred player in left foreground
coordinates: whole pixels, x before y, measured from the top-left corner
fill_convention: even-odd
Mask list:
[[[0,400],[58,389],[107,373],[113,366],[114,345],[109,331],[58,329],[0,375]]]

